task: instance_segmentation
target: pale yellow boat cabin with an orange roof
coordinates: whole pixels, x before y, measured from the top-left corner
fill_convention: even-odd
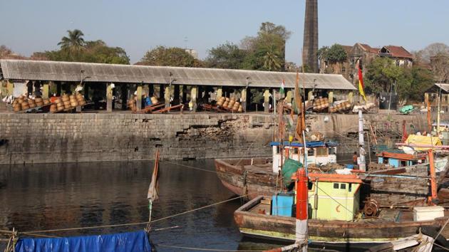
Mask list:
[[[353,220],[360,206],[361,184],[355,174],[309,173],[309,219]]]

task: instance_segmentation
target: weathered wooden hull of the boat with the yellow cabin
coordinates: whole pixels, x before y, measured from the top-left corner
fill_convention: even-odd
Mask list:
[[[253,213],[249,210],[264,199],[258,196],[234,212],[234,221],[245,236],[269,240],[295,240],[296,219]],[[309,219],[309,239],[314,243],[386,243],[418,233],[423,226],[443,226],[445,216],[435,221],[324,221]],[[442,232],[449,237],[449,230]]]

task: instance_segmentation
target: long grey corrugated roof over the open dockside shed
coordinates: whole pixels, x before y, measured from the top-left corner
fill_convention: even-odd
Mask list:
[[[0,60],[5,79],[53,80],[113,83],[170,83],[178,85],[224,85],[249,87],[280,87],[285,80],[286,88],[294,88],[296,73],[268,72],[257,70],[233,70],[217,68],[180,68],[148,65],[114,65],[60,61]],[[83,70],[83,73],[81,73]],[[306,88],[356,90],[342,75],[305,73],[300,74],[300,83],[305,79]],[[315,81],[314,81],[315,80]]]

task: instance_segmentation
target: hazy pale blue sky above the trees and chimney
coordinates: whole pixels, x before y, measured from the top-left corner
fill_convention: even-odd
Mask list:
[[[79,28],[86,40],[125,48],[132,63],[158,45],[194,48],[205,58],[271,21],[292,31],[286,57],[300,63],[304,7],[305,0],[0,0],[0,44],[29,56],[58,48],[68,29]],[[319,0],[318,10],[320,47],[449,44],[447,0]]]

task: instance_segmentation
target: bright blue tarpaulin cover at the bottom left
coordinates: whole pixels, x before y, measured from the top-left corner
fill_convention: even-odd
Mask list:
[[[140,252],[151,251],[145,231],[99,236],[20,238],[16,252]]]

